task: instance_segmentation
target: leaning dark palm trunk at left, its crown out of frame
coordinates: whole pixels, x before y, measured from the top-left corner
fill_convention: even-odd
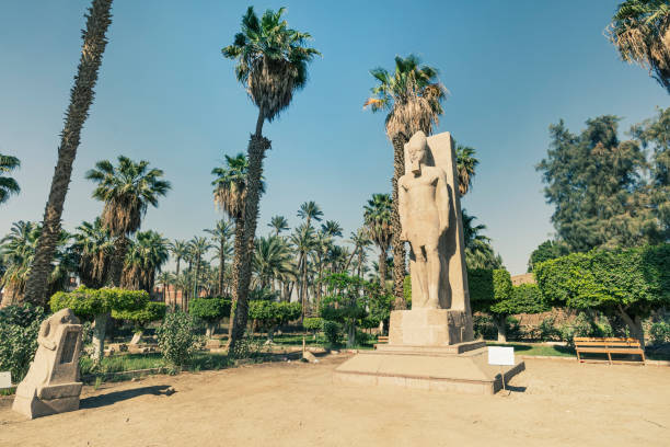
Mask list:
[[[112,0],[93,0],[86,16],[86,28],[82,33],[83,46],[74,85],[70,90],[70,105],[65,127],[60,134],[58,161],[51,179],[49,198],[44,211],[43,231],[37,243],[31,274],[26,284],[25,299],[44,305],[47,299],[48,276],[51,271],[54,252],[60,238],[60,217],[65,204],[72,163],[79,148],[81,129],[93,103],[93,88],[107,39],[105,33],[112,23]]]

